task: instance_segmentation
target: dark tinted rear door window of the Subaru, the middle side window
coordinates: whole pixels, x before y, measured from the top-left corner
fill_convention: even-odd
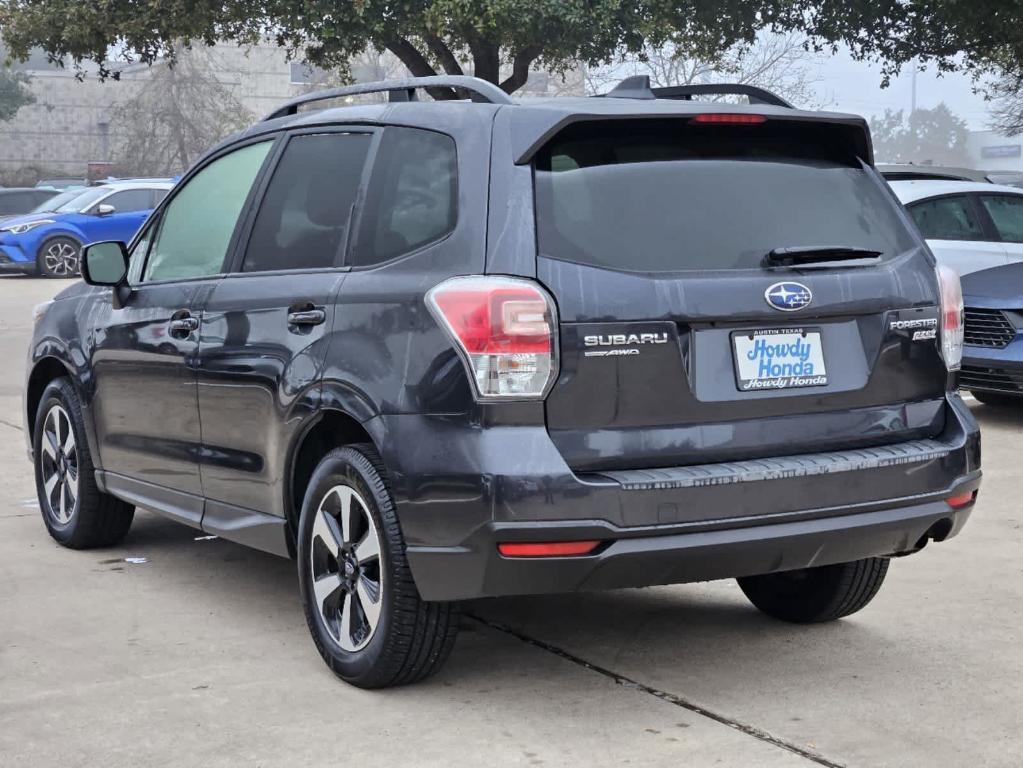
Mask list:
[[[256,217],[243,271],[339,263],[371,139],[327,133],[287,142]]]

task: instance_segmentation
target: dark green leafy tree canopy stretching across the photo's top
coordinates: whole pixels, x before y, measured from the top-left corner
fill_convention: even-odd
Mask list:
[[[110,50],[153,63],[177,40],[269,35],[344,70],[373,47],[416,76],[471,69],[509,92],[530,66],[596,65],[664,44],[707,59],[764,29],[800,32],[816,47],[847,44],[884,60],[886,76],[915,58],[1023,73],[1020,0],[0,0],[0,28],[15,56],[39,46],[76,64],[102,65]]]

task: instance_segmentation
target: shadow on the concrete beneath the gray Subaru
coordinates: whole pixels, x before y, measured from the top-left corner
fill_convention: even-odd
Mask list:
[[[211,614],[254,625],[275,615],[304,641],[295,561],[204,536],[143,511],[125,543],[103,550],[99,559],[112,561],[117,554],[160,560],[165,582],[182,589],[196,582],[208,585],[196,599],[208,603]],[[239,611],[247,616],[237,616]],[[813,656],[816,648],[824,652],[840,643],[859,657],[888,642],[857,622],[796,627],[773,621],[749,605],[733,582],[489,598],[462,603],[462,611],[455,651],[427,685],[493,684],[497,659],[552,649],[545,644],[580,658],[570,662],[588,662],[650,683],[665,668],[729,677],[742,669],[770,677],[782,675],[793,652]],[[318,662],[315,654],[310,659]]]

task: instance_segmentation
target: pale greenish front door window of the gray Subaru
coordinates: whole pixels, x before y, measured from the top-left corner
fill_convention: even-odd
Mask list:
[[[143,281],[220,272],[238,215],[271,143],[250,144],[218,157],[178,190],[160,217]]]

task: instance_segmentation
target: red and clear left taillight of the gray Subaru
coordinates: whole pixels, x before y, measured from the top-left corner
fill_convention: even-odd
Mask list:
[[[453,277],[427,295],[480,400],[538,399],[558,374],[554,303],[531,280]]]

